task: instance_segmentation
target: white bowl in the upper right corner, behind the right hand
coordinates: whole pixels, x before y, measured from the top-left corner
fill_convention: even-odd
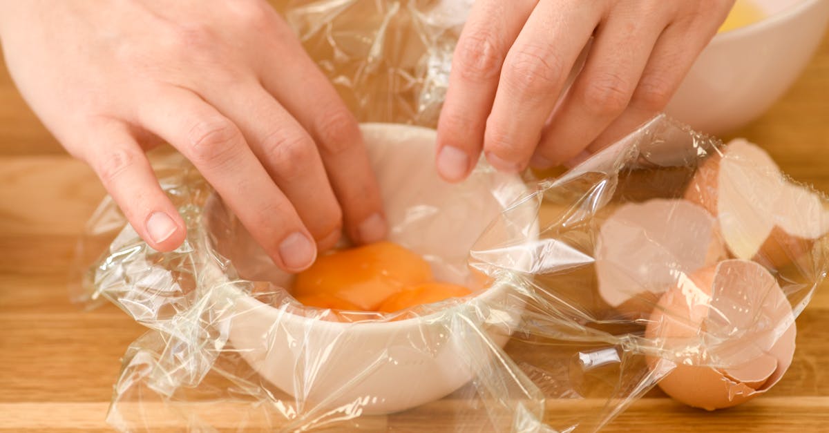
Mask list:
[[[666,112],[722,134],[756,119],[788,90],[820,44],[829,0],[751,0],[766,15],[715,36]]]

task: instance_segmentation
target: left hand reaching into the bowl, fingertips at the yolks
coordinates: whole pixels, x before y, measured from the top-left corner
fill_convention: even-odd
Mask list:
[[[356,119],[264,0],[0,0],[0,41],[32,109],[153,248],[185,238],[143,153],[162,142],[284,270],[343,222],[354,241],[385,236]]]

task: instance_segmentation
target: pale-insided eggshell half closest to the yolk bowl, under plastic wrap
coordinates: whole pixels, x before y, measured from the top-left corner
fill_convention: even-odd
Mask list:
[[[677,277],[725,257],[715,219],[686,200],[626,203],[608,216],[594,251],[599,294],[628,316],[642,317]]]

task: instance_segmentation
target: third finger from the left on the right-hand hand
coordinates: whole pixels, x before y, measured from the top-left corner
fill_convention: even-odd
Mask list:
[[[595,32],[584,69],[541,135],[531,165],[550,168],[570,161],[622,114],[645,69],[652,47],[667,25],[654,13],[611,13]]]

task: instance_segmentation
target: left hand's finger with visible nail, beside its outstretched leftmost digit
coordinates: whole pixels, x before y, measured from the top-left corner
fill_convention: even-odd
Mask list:
[[[317,246],[288,198],[230,119],[189,90],[152,95],[138,119],[199,169],[274,263],[289,272],[313,263]]]

